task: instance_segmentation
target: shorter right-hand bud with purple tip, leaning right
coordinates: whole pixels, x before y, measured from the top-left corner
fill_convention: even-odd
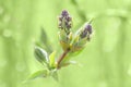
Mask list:
[[[84,27],[79,29],[76,32],[76,35],[74,37],[74,40],[71,44],[71,51],[79,51],[84,48],[86,45],[87,40],[91,39],[91,34],[92,34],[92,25],[91,24],[85,24]]]

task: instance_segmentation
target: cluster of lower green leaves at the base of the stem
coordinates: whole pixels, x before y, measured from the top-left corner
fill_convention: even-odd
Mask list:
[[[28,78],[33,79],[36,77],[47,77],[47,76],[52,76],[56,80],[58,80],[58,75],[57,75],[57,64],[55,61],[55,55],[56,52],[48,53],[41,49],[40,47],[35,47],[35,58],[36,60],[41,63],[43,65],[46,65],[47,70],[40,70],[36,71],[33,73]]]

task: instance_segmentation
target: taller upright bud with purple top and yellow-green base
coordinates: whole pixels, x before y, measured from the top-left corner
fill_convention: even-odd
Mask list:
[[[72,33],[70,28],[72,27],[72,17],[67,10],[63,10],[59,16],[59,41],[63,50],[70,48],[70,42],[72,40]]]

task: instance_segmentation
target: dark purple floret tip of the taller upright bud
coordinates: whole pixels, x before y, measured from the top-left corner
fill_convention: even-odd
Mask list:
[[[70,30],[72,27],[72,17],[69,15],[67,10],[63,10],[59,16],[58,27],[64,29],[66,32]]]

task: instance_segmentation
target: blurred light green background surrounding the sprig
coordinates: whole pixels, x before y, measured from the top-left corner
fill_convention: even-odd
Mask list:
[[[51,77],[23,83],[41,69],[34,58],[40,27],[61,52],[57,18],[73,17],[73,32],[95,17],[94,35],[84,51]],[[0,87],[131,87],[131,0],[0,0]],[[44,38],[43,38],[44,39]]]

